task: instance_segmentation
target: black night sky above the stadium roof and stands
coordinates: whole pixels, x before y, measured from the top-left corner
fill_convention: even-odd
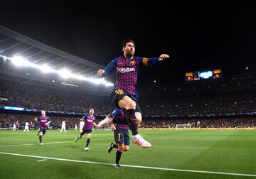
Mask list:
[[[256,70],[253,4],[84,3],[4,2],[0,25],[100,65],[122,55],[126,38],[135,41],[137,56],[171,55],[169,60],[143,69],[141,85],[154,80],[183,82],[184,73],[193,70],[222,68],[224,77]]]

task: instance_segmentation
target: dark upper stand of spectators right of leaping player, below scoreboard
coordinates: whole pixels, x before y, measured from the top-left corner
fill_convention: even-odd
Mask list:
[[[206,116],[256,112],[256,75],[140,89],[144,115]]]

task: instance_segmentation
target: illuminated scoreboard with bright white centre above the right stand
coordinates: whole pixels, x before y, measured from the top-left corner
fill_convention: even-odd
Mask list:
[[[221,69],[186,72],[186,74],[185,74],[186,81],[218,79],[221,77],[222,77]]]

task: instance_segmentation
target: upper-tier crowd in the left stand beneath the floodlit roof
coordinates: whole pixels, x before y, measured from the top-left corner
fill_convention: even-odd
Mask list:
[[[82,92],[72,93],[4,80],[0,85],[0,97],[8,99],[1,101],[0,104],[4,105],[82,113],[93,107],[99,114],[112,110],[109,97],[93,97]]]

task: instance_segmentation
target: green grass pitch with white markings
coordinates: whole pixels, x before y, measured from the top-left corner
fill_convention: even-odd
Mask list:
[[[152,146],[131,140],[123,170],[107,153],[112,131],[92,131],[90,151],[78,131],[48,130],[43,146],[36,131],[0,131],[0,178],[256,178],[256,130],[140,131]]]

